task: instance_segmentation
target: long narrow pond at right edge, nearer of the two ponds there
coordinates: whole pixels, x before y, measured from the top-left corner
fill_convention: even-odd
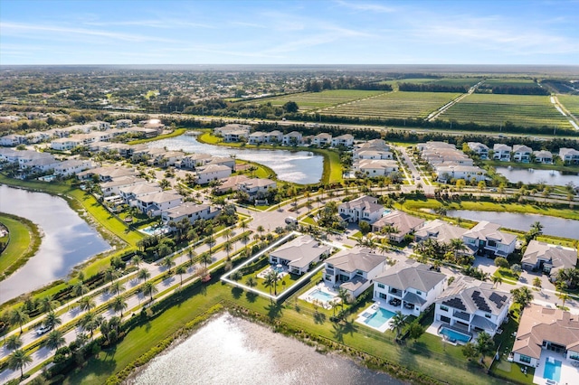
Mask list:
[[[546,235],[579,239],[579,221],[565,220],[548,215],[470,210],[449,210],[447,215],[470,221],[489,221],[498,223],[508,229],[521,231],[528,231],[534,222],[539,221],[543,225],[543,233]]]

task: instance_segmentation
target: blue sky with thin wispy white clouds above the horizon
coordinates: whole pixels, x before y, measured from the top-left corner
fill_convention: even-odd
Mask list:
[[[0,0],[0,64],[579,64],[579,1]]]

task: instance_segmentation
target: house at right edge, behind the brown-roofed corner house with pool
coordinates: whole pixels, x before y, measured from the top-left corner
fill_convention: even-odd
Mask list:
[[[560,269],[576,268],[577,250],[532,239],[528,242],[521,266],[527,270],[550,274],[551,279],[555,279]]]

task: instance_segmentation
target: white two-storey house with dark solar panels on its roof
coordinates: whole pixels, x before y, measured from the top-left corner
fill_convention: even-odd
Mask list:
[[[460,276],[435,301],[434,321],[461,333],[484,331],[493,336],[507,319],[511,297],[490,283]]]

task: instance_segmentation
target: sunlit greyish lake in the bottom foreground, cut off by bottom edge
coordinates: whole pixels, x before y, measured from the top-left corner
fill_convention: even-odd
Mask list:
[[[129,384],[402,384],[259,324],[220,315],[147,364]]]

